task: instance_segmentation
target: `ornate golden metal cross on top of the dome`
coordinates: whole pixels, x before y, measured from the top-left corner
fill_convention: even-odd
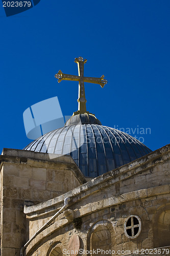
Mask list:
[[[104,85],[107,83],[107,80],[104,79],[104,75],[101,76],[100,78],[95,78],[95,77],[84,77],[84,63],[87,62],[87,59],[83,59],[82,57],[75,58],[75,62],[78,64],[78,70],[79,70],[79,75],[67,75],[63,74],[61,70],[55,75],[55,77],[58,79],[58,82],[61,82],[62,80],[71,80],[71,81],[79,81],[79,109],[77,112],[74,112],[74,115],[82,114],[82,113],[87,113],[89,112],[86,111],[86,98],[85,98],[85,90],[84,90],[84,82],[91,82],[91,83],[98,83],[101,85],[103,88]]]

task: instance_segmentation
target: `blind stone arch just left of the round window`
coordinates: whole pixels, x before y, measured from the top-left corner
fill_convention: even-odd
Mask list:
[[[87,237],[87,250],[101,249],[106,251],[111,250],[111,234],[112,225],[107,220],[96,222],[89,230]],[[95,253],[94,253],[95,254]],[[98,253],[100,255],[100,253]],[[93,253],[91,254],[93,255]],[[102,253],[105,255],[105,253]],[[107,253],[107,255],[111,255]]]

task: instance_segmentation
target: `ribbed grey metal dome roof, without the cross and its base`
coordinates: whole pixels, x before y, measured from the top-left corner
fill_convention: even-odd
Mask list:
[[[107,126],[71,125],[71,120],[67,125],[34,140],[24,150],[70,155],[86,177],[97,177],[152,152],[132,136]]]

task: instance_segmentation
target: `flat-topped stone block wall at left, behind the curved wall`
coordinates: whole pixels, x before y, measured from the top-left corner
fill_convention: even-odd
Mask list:
[[[45,155],[4,150],[0,156],[1,253],[4,256],[20,255],[20,248],[29,238],[24,204],[44,202],[85,182],[70,157],[46,159]]]

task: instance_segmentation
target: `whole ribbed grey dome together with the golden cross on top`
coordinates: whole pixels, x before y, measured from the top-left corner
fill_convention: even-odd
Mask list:
[[[84,82],[100,84],[103,88],[107,80],[104,75],[100,78],[84,76],[87,59],[79,57],[75,58],[75,62],[79,76],[67,75],[59,70],[55,77],[58,82],[79,81],[79,110],[74,112],[64,127],[39,137],[24,150],[70,155],[85,177],[97,177],[152,152],[132,136],[103,126],[93,114],[86,111]]]

